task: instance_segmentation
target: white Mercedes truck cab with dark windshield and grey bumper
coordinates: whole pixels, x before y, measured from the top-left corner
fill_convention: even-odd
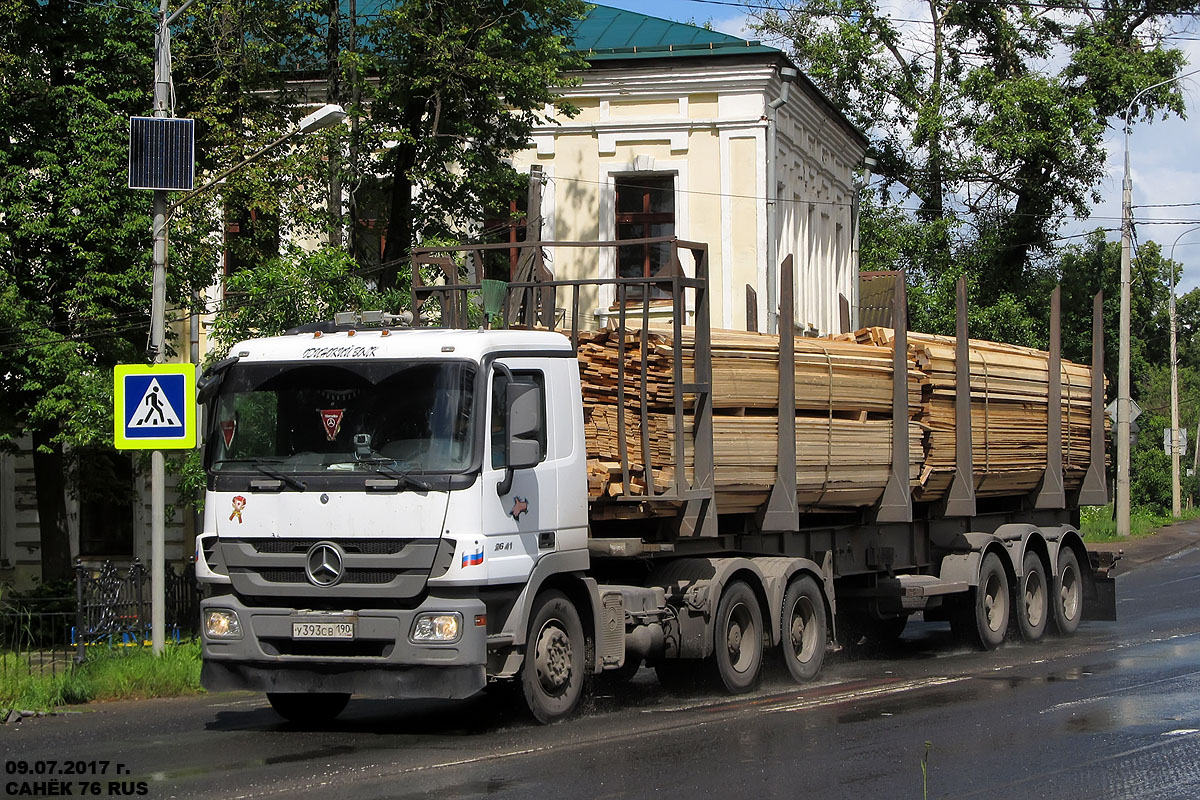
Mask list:
[[[204,685],[290,717],[480,691],[535,572],[588,567],[569,339],[324,324],[230,356],[202,381]]]

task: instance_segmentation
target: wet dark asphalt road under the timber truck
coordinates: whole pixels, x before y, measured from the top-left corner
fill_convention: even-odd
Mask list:
[[[929,742],[930,798],[1200,798],[1200,549],[1117,591],[1121,621],[1070,639],[980,654],[914,621],[887,656],[832,657],[805,687],[776,666],[751,696],[671,694],[643,669],[548,728],[485,697],[353,700],[301,730],[234,693],[26,720],[0,751],[125,764],[101,796],[145,781],[148,798],[923,798]]]

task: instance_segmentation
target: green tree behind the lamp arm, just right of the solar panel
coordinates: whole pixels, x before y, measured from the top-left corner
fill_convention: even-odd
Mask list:
[[[304,82],[294,79],[310,77],[310,67],[328,56],[326,8],[324,0],[198,0],[176,23],[176,113],[196,120],[198,185],[280,138],[311,110]],[[342,137],[331,130],[293,138],[212,194],[185,203],[172,221],[168,277],[176,293],[198,296],[220,282],[222,265],[235,272],[276,258],[283,240],[322,234],[322,178],[328,180],[326,155]]]

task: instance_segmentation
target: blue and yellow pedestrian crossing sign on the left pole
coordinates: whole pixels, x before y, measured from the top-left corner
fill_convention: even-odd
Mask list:
[[[119,363],[113,371],[113,441],[118,450],[196,446],[196,367]]]

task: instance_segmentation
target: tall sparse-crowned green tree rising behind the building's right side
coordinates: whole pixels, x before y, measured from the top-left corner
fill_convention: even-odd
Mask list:
[[[931,301],[944,300],[944,279],[973,276],[977,313],[1022,314],[1003,331],[1020,338],[1043,313],[1033,288],[1060,224],[1087,215],[1104,175],[1110,120],[1180,74],[1186,58],[1166,23],[1195,8],[931,0],[901,22],[876,0],[812,0],[758,19],[872,139],[882,185],[868,203],[882,211],[864,213],[864,253],[872,240],[902,243]],[[1183,114],[1177,85],[1133,109],[1159,113]]]

